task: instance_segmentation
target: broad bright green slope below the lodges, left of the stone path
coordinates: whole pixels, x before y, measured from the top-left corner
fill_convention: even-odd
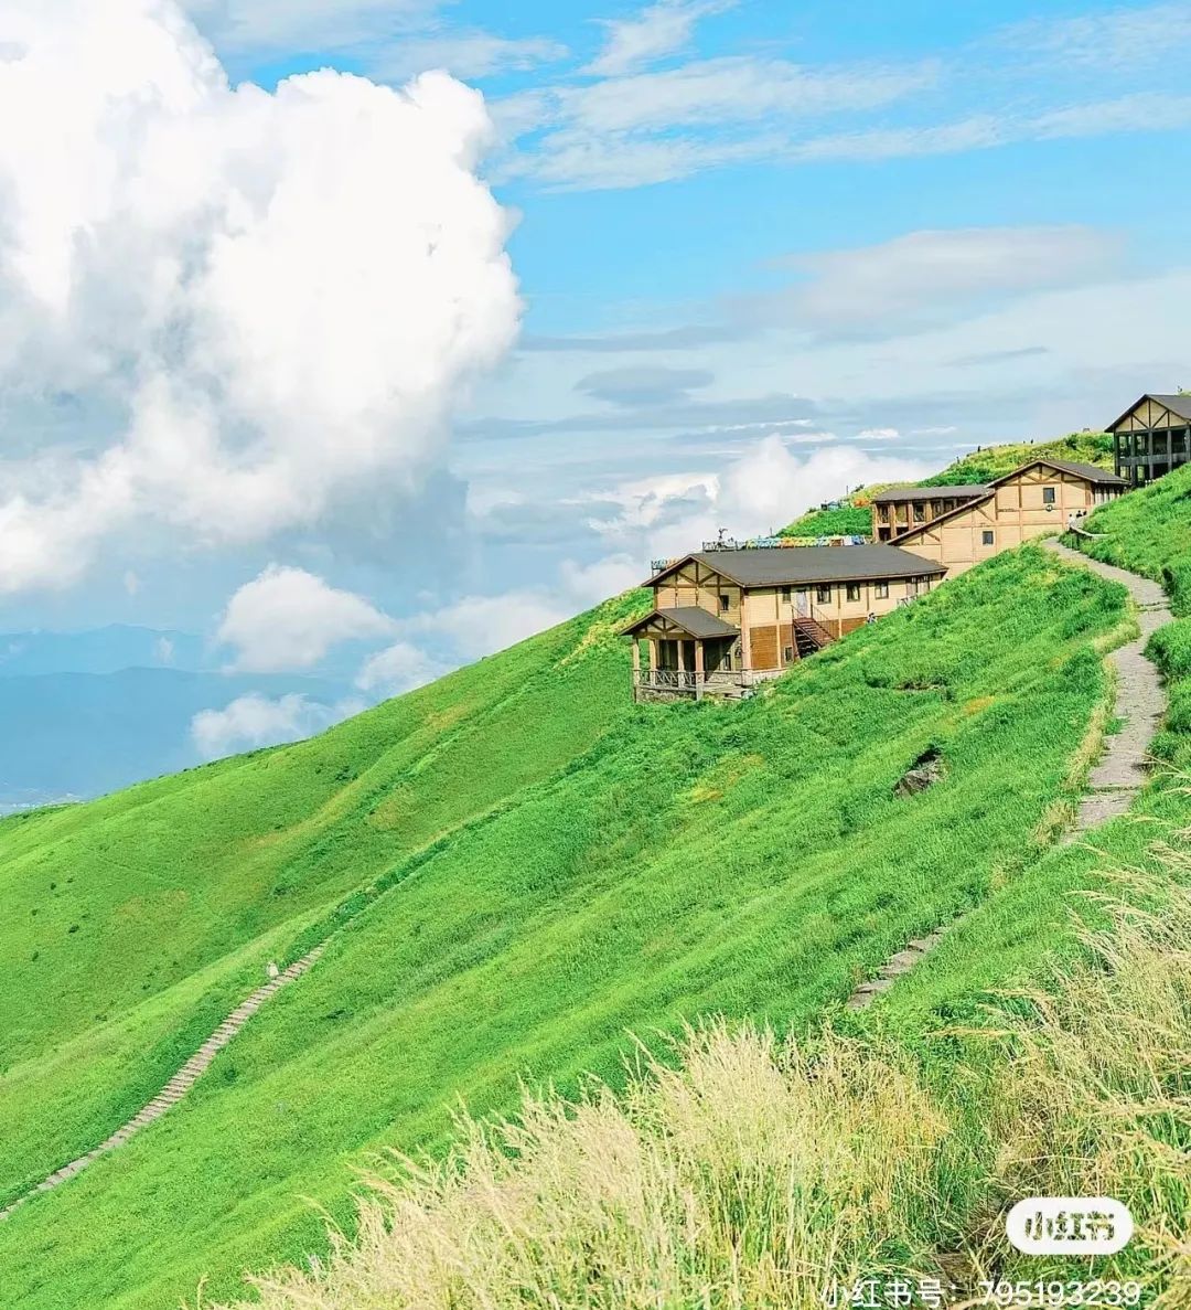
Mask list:
[[[158,882],[183,909],[205,870],[213,887],[202,912],[153,921],[178,946],[116,935],[133,956],[149,935],[136,968],[116,959],[109,977],[93,950],[88,979],[51,993],[54,1018],[24,1026],[24,1064],[0,1083],[17,1089],[9,1176],[26,1169],[21,1142],[54,1140],[52,1099],[30,1094],[71,1048],[58,1034],[92,1040],[90,1013],[114,1019],[157,979],[124,1023],[157,1023],[165,1043],[166,1020],[215,986],[186,964],[246,979],[329,896],[389,884],[178,1111],[0,1225],[0,1303],[158,1306],[207,1269],[228,1290],[245,1265],[322,1244],[301,1197],[346,1220],[369,1151],[440,1145],[458,1095],[508,1108],[525,1072],[564,1087],[615,1074],[626,1028],[711,1010],[784,1026],[830,1007],[1037,857],[1103,692],[1092,641],[1122,605],[1118,588],[1029,549],[853,634],[771,696],[641,710],[606,622],[588,639],[577,620],[304,747],[0,827],[4,895],[50,904],[48,883],[73,876],[97,935],[119,934]],[[897,799],[928,745],[945,781]],[[130,831],[153,820],[152,861],[103,821],[118,832],[122,807]],[[59,933],[71,917],[56,912]],[[54,948],[69,960],[69,943]],[[5,958],[27,1003],[41,960]]]

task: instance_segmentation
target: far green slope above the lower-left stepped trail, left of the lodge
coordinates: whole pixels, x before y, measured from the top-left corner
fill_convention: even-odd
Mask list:
[[[613,633],[640,608],[313,741],[0,823],[0,1203],[122,1123],[342,896],[627,717]]]

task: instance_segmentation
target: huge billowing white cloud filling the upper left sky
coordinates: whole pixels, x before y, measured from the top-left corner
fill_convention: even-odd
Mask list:
[[[81,414],[0,460],[0,592],[412,491],[516,334],[491,124],[444,73],[233,88],[173,0],[8,0],[0,122],[0,396]]]

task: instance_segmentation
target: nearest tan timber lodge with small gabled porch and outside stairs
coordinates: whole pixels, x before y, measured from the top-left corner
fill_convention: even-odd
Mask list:
[[[889,545],[704,550],[643,583],[635,700],[745,696],[758,683],[928,592],[946,572]],[[644,647],[644,659],[643,659]]]

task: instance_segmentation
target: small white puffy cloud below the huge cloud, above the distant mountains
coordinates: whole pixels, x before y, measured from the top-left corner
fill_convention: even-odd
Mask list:
[[[385,637],[395,624],[363,596],[304,569],[270,565],[228,601],[217,638],[236,647],[234,668],[313,668],[339,642]]]

